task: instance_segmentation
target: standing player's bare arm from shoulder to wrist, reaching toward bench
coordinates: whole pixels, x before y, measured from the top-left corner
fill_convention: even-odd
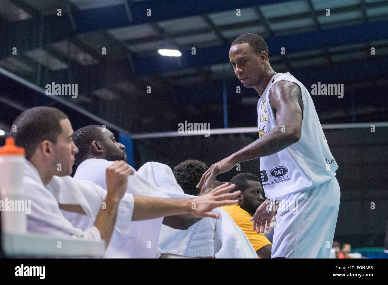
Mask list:
[[[299,141],[302,131],[301,91],[294,82],[279,81],[268,93],[276,127],[232,155],[234,164],[272,155]]]

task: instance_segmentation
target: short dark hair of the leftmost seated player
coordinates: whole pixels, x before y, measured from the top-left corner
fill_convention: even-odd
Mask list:
[[[24,148],[26,159],[31,159],[38,145],[45,140],[56,144],[62,133],[61,120],[68,116],[57,108],[38,106],[25,110],[16,117],[10,136],[15,138],[15,144]]]

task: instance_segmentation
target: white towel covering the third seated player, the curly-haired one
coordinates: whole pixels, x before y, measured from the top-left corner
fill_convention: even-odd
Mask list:
[[[138,173],[170,198],[194,198],[185,194],[168,165],[147,162]],[[220,218],[203,218],[187,230],[162,225],[159,247],[162,253],[216,258],[258,258],[251,243],[232,217],[223,209],[213,209]]]

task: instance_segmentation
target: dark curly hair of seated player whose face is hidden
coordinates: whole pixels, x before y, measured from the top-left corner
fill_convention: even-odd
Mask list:
[[[195,159],[189,159],[182,161],[174,167],[173,173],[183,192],[189,195],[198,196],[201,189],[198,189],[196,186],[199,183],[199,180],[201,180],[203,173],[208,169],[209,167],[206,163]]]

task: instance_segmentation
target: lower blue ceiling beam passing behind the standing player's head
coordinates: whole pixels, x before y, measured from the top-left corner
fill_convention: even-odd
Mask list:
[[[356,24],[320,31],[289,34],[266,39],[272,54],[286,48],[287,53],[314,50],[331,46],[350,45],[370,40],[386,39],[388,21]],[[228,61],[229,45],[199,48],[196,55],[191,50],[182,51],[182,68],[194,68],[201,65],[212,65]],[[151,74],[178,69],[176,61],[168,57],[151,56],[135,60],[135,69],[139,74]]]

